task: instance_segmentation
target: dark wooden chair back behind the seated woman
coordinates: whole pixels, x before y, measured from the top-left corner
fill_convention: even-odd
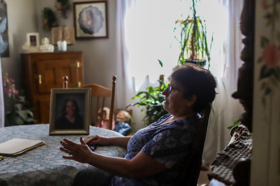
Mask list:
[[[210,104],[201,112],[202,120],[197,136],[177,179],[176,185],[197,185],[210,112]]]

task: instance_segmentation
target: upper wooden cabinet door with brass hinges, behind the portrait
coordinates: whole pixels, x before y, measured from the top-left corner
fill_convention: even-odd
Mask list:
[[[78,67],[77,67],[78,63]],[[38,92],[49,93],[52,88],[63,88],[63,76],[68,76],[68,88],[78,87],[80,62],[76,59],[38,61]]]

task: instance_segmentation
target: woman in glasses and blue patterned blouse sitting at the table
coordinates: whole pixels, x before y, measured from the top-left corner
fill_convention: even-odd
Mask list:
[[[162,92],[162,116],[129,137],[94,136],[81,144],[64,139],[60,150],[72,156],[64,159],[88,163],[113,174],[110,185],[174,185],[192,143],[197,135],[202,111],[216,96],[216,81],[206,69],[186,63],[174,67],[170,83]],[[93,153],[89,145],[127,147],[125,158]]]

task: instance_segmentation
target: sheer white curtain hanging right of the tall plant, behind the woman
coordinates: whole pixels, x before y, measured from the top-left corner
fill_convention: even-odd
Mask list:
[[[239,101],[231,96],[237,90],[238,69],[243,63],[240,59],[240,54],[244,47],[241,44],[244,36],[239,28],[243,0],[211,1],[211,3],[214,2],[216,2],[216,6],[217,8],[219,7],[220,11],[215,11],[216,15],[214,14],[213,16],[210,13],[206,17],[206,22],[207,26],[214,26],[220,30],[219,35],[216,35],[214,31],[214,42],[218,51],[213,51],[215,55],[212,58],[212,62],[223,64],[223,71],[220,73],[218,65],[218,68],[216,68],[216,65],[210,67],[211,72],[217,77],[218,88],[216,92],[218,92],[218,95],[212,103],[213,110],[206,134],[203,152],[205,164],[210,164],[216,157],[216,153],[223,150],[229,143],[231,137],[229,135],[230,130],[227,127],[244,112]],[[205,6],[211,7],[210,4],[206,5],[206,3],[205,1]],[[214,9],[217,10],[216,8]],[[223,12],[223,15],[220,15],[220,12]],[[216,42],[217,39],[218,42]]]

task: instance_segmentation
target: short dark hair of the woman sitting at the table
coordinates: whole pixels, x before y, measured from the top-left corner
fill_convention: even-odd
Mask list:
[[[217,83],[213,74],[199,65],[192,63],[177,65],[168,77],[169,81],[171,79],[183,86],[186,99],[196,95],[197,99],[192,107],[194,112],[201,112],[216,97]]]

